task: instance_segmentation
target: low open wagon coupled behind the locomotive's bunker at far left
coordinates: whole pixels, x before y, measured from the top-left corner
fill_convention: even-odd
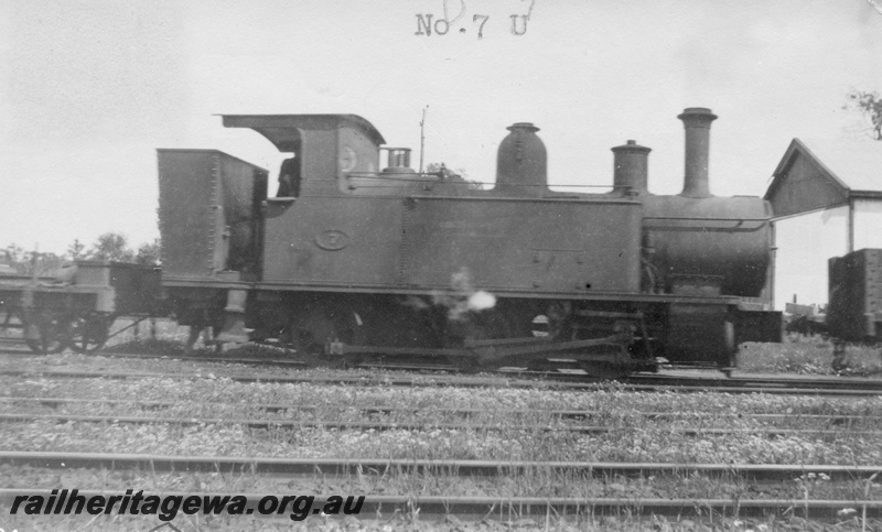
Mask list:
[[[92,351],[117,317],[161,314],[160,295],[150,265],[76,261],[52,278],[0,273],[0,334],[20,329],[36,352]]]

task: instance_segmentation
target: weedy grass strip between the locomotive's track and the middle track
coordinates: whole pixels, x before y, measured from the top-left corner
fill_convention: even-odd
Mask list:
[[[64,356],[61,356],[64,357]],[[75,357],[101,363],[99,357]],[[104,359],[105,361],[107,359]],[[173,360],[166,361],[170,369]],[[151,362],[152,363],[152,362]],[[180,363],[180,362],[179,362]],[[85,369],[89,369],[87,366]],[[137,369],[136,369],[137,370]],[[476,409],[484,412],[488,422],[502,421],[504,411],[518,411],[519,420],[530,415],[541,419],[547,410],[581,410],[596,412],[599,423],[619,426],[639,426],[645,422],[644,412],[671,412],[695,414],[695,417],[732,417],[751,414],[784,414],[794,420],[810,414],[821,415],[880,415],[882,399],[795,397],[767,394],[727,394],[713,392],[658,392],[627,391],[616,386],[598,388],[594,391],[456,388],[427,386],[405,388],[384,386],[376,381],[365,386],[300,383],[245,383],[206,374],[204,378],[173,379],[148,378],[131,381],[111,379],[47,379],[42,377],[0,377],[0,395],[79,398],[79,399],[130,399],[141,401],[182,402],[182,409],[194,409],[196,403],[211,403],[222,409],[220,403],[246,405],[283,403],[291,409],[310,405],[318,409],[316,419],[338,419],[341,415],[358,415],[355,410],[365,405],[417,410],[416,415],[431,419],[442,409]],[[225,412],[218,410],[217,412]],[[243,411],[244,413],[246,411]],[[345,412],[337,413],[337,412]],[[194,415],[196,412],[194,411]],[[413,415],[413,414],[411,414]],[[407,417],[415,419],[415,417]],[[439,419],[439,421],[441,421]],[[482,421],[477,417],[476,421]],[[689,425],[693,421],[686,417]],[[725,421],[729,423],[729,421]],[[727,425],[728,426],[728,425]]]

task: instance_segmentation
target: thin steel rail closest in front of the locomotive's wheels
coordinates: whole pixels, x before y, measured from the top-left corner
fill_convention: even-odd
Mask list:
[[[74,379],[90,379],[90,378],[107,378],[107,379],[204,379],[207,378],[203,373],[155,373],[155,372],[123,372],[123,371],[60,371],[60,370],[14,370],[8,369],[0,371],[0,376],[10,377],[44,377],[44,378],[74,378]],[[427,382],[424,377],[402,378],[402,377],[367,377],[367,376],[329,376],[329,377],[293,377],[293,376],[279,376],[279,374],[222,374],[217,378],[226,378],[236,382],[276,382],[276,383],[298,383],[298,382],[320,382],[320,383],[348,383],[348,384],[385,384],[397,387],[460,387],[460,388],[536,388],[537,383],[541,383],[551,389],[566,389],[574,391],[595,390],[598,383],[587,382],[572,382],[566,380],[512,380],[505,378],[470,378],[470,379],[443,379],[439,380],[437,377],[431,378],[431,382]],[[713,387],[699,387],[690,386],[678,388],[673,384],[621,384],[623,390],[632,391],[658,391],[662,389],[676,389],[677,391],[711,391],[711,392],[725,392],[725,393],[768,393],[768,394],[798,394],[798,395],[839,395],[839,397],[868,397],[868,395],[882,395],[882,388],[879,389],[825,389],[825,388],[766,388],[766,387],[728,387],[728,386],[713,386]]]

